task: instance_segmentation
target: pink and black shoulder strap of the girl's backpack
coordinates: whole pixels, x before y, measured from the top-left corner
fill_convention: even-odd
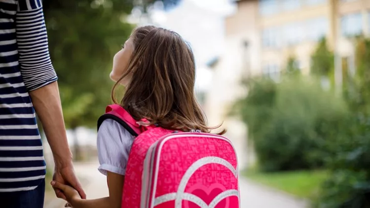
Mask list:
[[[98,130],[106,119],[113,119],[123,126],[132,136],[137,137],[142,133],[140,125],[135,119],[119,104],[111,104],[106,108],[106,113],[98,119]]]

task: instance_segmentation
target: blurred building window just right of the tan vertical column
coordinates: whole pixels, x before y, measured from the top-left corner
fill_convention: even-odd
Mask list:
[[[340,20],[341,32],[344,36],[356,36],[362,34],[362,15],[354,13],[342,16]]]

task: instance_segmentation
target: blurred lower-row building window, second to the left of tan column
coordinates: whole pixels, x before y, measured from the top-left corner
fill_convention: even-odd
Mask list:
[[[304,39],[302,24],[293,23],[285,26],[284,39],[287,45],[295,45],[302,42]]]

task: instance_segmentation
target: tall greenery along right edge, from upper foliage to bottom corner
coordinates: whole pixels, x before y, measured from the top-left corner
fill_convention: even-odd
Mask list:
[[[327,143],[332,155],[326,167],[332,175],[322,186],[318,208],[370,208],[369,39],[358,39],[356,66],[355,76],[347,77],[348,87],[343,88],[351,117]]]

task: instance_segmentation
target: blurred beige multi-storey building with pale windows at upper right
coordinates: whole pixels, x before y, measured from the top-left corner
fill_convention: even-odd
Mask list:
[[[239,48],[249,52],[242,59],[249,60],[244,68],[252,75],[279,76],[290,56],[296,58],[303,73],[308,73],[310,55],[322,37],[345,58],[353,54],[347,37],[370,34],[370,0],[237,0],[236,3],[237,12],[225,21],[226,38],[237,41]]]

